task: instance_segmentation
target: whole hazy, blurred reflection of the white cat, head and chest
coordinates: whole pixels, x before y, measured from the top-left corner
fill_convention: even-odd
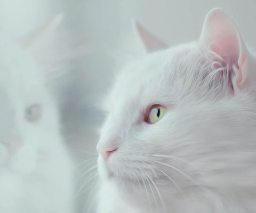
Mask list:
[[[55,35],[60,21],[58,16],[21,39],[21,46],[26,48],[0,34],[3,213],[73,212],[73,162],[60,135],[58,109],[47,91],[44,70],[31,54],[42,53],[37,47],[44,46],[45,39]]]

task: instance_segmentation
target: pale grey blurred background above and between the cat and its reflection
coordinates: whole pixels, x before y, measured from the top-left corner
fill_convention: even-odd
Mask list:
[[[124,59],[141,47],[132,18],[167,44],[176,45],[198,39],[204,17],[214,7],[222,7],[230,15],[245,42],[255,49],[255,0],[0,0],[0,30],[19,37],[62,12],[66,29],[87,48],[86,54],[74,61],[69,81],[52,88],[59,101],[63,135],[78,165],[95,157],[104,118],[97,108],[102,95]],[[90,165],[83,167],[88,168]],[[78,188],[82,183],[78,182]],[[85,211],[86,196],[86,190],[78,194],[77,212]]]

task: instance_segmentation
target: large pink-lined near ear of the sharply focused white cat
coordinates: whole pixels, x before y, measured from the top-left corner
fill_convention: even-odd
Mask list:
[[[249,76],[249,52],[228,15],[221,9],[211,10],[205,18],[199,45],[220,56],[231,74],[235,92],[246,86]]]

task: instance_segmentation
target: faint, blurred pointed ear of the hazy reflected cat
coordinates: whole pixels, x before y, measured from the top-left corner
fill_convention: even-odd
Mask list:
[[[46,40],[54,37],[55,31],[57,31],[63,20],[63,14],[56,15],[51,21],[46,23],[44,26],[31,31],[29,34],[18,39],[19,44],[28,49],[34,49],[38,46],[44,45]]]

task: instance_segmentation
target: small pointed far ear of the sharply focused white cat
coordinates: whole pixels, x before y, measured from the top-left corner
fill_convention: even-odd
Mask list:
[[[164,42],[162,42],[162,40],[158,39],[156,36],[142,27],[142,25],[137,20],[132,20],[132,25],[148,53],[157,50],[163,50],[168,47]]]

